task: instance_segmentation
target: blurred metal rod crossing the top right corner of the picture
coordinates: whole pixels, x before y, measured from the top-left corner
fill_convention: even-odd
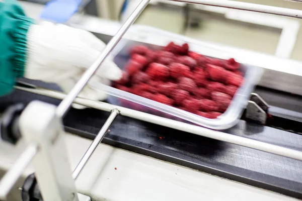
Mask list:
[[[229,9],[244,10],[244,11],[253,11],[258,13],[267,13],[267,14],[274,14],[279,16],[287,16],[287,17],[300,18],[300,19],[302,18],[302,11],[300,10],[285,9],[280,7],[250,4],[244,2],[235,2],[229,0],[189,0],[189,1],[169,0],[169,1],[223,7]]]

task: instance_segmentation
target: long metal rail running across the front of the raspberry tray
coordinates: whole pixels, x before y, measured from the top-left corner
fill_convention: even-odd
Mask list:
[[[25,87],[16,87],[16,88],[18,88],[20,90],[40,94],[40,95],[46,95],[49,97],[58,98],[58,99],[63,99],[66,96],[65,94],[63,94],[61,92],[55,92],[55,91],[51,91],[51,90],[47,90],[47,89],[38,90],[38,89],[31,89],[31,88],[25,88]],[[158,117],[155,115],[150,115],[147,113],[143,113],[143,112],[139,112],[139,111],[123,108],[123,107],[117,107],[117,106],[114,106],[111,104],[96,102],[96,101],[88,100],[85,98],[78,97],[74,100],[74,103],[80,104],[83,106],[87,106],[90,108],[95,108],[98,110],[103,110],[103,111],[110,111],[110,110],[113,110],[116,108],[120,111],[120,113],[123,116],[138,119],[140,121],[150,122],[153,124],[173,128],[176,130],[185,131],[185,132],[193,133],[196,135],[220,140],[223,142],[229,142],[232,144],[237,144],[237,145],[249,147],[252,149],[265,151],[268,153],[285,156],[288,158],[293,158],[293,159],[302,161],[302,152],[301,151],[281,147],[278,145],[273,145],[273,144],[269,144],[266,142],[252,140],[249,138],[236,136],[236,135],[232,135],[232,134],[228,134],[228,133],[222,133],[219,131],[214,131],[214,130],[202,128],[199,126],[194,126],[194,125],[186,124],[186,123],[175,121],[175,120],[170,120],[170,119]]]

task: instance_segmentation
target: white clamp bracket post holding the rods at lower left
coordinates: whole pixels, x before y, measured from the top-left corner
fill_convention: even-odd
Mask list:
[[[38,152],[33,159],[35,175],[44,201],[79,201],[64,146],[61,118],[56,107],[31,102],[20,116],[22,137]]]

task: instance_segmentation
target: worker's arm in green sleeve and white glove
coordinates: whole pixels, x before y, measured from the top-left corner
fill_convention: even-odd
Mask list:
[[[4,2],[1,2],[4,1]],[[61,24],[33,24],[14,0],[0,0],[0,95],[13,90],[17,77],[57,83],[69,92],[106,45],[92,33]],[[121,70],[108,58],[92,81],[108,84]],[[79,96],[102,100],[104,93],[86,86]]]

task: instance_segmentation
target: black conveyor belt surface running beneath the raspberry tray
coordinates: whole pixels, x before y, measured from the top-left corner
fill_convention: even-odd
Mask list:
[[[59,100],[24,91],[0,98],[0,110],[13,103],[40,99]],[[287,103],[290,101],[288,100]],[[278,111],[274,107],[275,111]],[[282,112],[282,110],[280,109]],[[280,112],[280,113],[281,113]],[[289,114],[290,115],[290,114]],[[94,109],[71,109],[64,119],[66,131],[93,139],[109,113]],[[302,136],[241,120],[225,132],[302,150]],[[103,143],[162,160],[302,198],[302,161],[224,143],[202,136],[118,116]],[[97,167],[96,167],[97,168]]]

